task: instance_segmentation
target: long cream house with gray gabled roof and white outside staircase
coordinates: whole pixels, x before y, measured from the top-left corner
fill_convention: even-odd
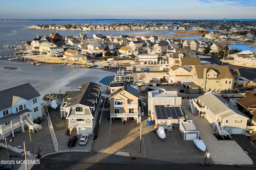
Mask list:
[[[191,103],[219,135],[244,134],[248,117],[216,93],[207,92]]]

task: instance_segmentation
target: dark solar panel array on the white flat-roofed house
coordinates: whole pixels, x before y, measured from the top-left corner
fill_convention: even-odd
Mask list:
[[[158,119],[168,119],[168,117],[178,119],[178,117],[182,117],[180,107],[165,107],[162,105],[155,105],[155,108]]]

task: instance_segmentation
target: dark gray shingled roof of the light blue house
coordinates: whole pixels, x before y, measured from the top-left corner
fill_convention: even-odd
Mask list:
[[[21,97],[25,100],[34,99],[40,94],[29,83],[0,91],[0,110],[12,107],[13,96]]]

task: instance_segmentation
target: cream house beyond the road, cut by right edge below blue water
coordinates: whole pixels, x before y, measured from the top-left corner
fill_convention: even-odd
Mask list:
[[[251,55],[235,55],[234,63],[245,66],[256,66],[256,57]]]

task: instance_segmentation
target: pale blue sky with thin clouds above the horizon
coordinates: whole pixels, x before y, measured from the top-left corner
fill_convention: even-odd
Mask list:
[[[256,19],[256,0],[6,0],[4,19]]]

